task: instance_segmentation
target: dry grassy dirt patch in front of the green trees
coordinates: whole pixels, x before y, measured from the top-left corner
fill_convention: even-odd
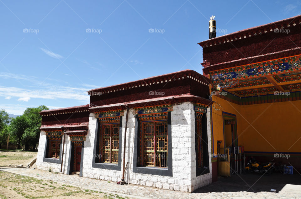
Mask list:
[[[36,157],[37,152],[22,150],[0,150],[0,167],[9,165],[17,166],[20,164],[27,166]]]

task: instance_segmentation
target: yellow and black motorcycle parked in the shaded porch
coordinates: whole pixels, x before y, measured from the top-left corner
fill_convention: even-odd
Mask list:
[[[244,173],[256,172],[267,176],[271,175],[272,170],[274,169],[273,161],[274,160],[271,160],[269,163],[261,164],[256,162],[254,158],[251,158],[249,162],[247,162]]]

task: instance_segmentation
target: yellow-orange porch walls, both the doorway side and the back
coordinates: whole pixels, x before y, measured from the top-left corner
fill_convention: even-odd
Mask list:
[[[221,147],[224,143],[223,111],[236,115],[238,144],[245,151],[301,151],[301,101],[240,106],[216,96],[212,100],[221,109],[214,109],[216,103],[212,106],[214,153],[217,153],[216,141],[223,141]]]

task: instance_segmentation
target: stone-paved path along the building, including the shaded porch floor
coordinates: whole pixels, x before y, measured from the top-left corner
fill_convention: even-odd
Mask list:
[[[187,193],[137,185],[118,185],[115,182],[31,168],[10,168],[2,169],[2,171],[132,198],[301,198],[301,176],[298,174],[273,173],[271,176],[263,177],[260,175],[236,175],[231,178],[219,178],[218,182],[202,187],[194,193]],[[271,188],[276,189],[276,193],[270,192]]]

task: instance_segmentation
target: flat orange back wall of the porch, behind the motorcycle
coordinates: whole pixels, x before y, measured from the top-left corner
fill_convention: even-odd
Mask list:
[[[252,125],[239,132],[246,151],[301,152],[300,100],[245,105],[240,111]]]

